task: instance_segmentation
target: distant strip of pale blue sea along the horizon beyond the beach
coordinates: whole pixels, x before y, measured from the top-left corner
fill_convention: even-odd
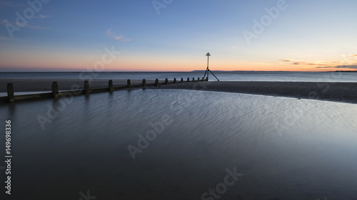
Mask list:
[[[219,80],[230,81],[311,81],[311,82],[357,82],[357,73],[321,73],[321,72],[213,72]],[[32,72],[0,73],[0,78],[74,78],[74,79],[133,79],[148,80],[174,78],[202,78],[204,72]],[[216,80],[209,74],[209,80]]]

